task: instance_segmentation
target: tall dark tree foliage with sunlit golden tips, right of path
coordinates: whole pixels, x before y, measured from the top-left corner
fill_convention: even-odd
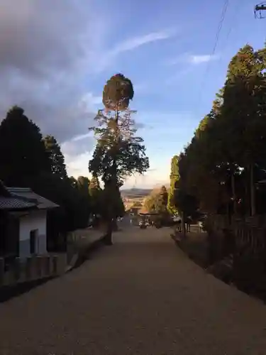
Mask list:
[[[178,193],[196,197],[206,212],[255,213],[255,183],[265,169],[265,69],[265,48],[240,48],[210,113],[179,155]]]

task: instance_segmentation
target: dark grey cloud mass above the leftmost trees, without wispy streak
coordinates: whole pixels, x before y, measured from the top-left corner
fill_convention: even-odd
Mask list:
[[[89,10],[79,0],[20,0],[19,6],[16,0],[1,0],[2,117],[18,104],[61,142],[83,130],[94,97],[81,97],[82,77],[95,33],[101,34]]]

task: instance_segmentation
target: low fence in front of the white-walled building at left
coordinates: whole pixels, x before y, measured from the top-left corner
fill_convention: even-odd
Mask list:
[[[5,271],[4,258],[0,258],[0,286],[55,277],[65,273],[66,268],[65,253],[53,256],[33,256],[26,259],[16,258],[7,271]]]

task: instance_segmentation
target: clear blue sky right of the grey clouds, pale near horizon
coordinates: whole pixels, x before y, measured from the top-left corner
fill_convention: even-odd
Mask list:
[[[168,182],[172,155],[189,142],[209,112],[228,61],[245,43],[259,48],[265,41],[266,19],[255,20],[255,2],[231,0],[211,58],[223,1],[180,3],[112,1],[113,26],[104,42],[107,58],[112,50],[115,54],[84,83],[100,95],[106,79],[122,72],[135,85],[131,107],[144,124],[139,133],[145,139],[150,171],[145,178],[128,180],[126,187]],[[100,11],[108,13],[109,4],[99,1]]]

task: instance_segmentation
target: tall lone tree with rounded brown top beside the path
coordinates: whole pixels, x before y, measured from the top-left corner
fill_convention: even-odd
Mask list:
[[[101,175],[105,185],[107,204],[106,244],[111,245],[113,218],[117,211],[114,206],[118,189],[123,180],[133,173],[143,173],[148,169],[148,158],[145,156],[143,139],[135,136],[134,121],[128,104],[133,99],[131,80],[121,74],[114,75],[106,82],[103,92],[105,110],[99,110],[96,126],[92,127],[97,139],[96,149],[89,170],[92,175]]]

